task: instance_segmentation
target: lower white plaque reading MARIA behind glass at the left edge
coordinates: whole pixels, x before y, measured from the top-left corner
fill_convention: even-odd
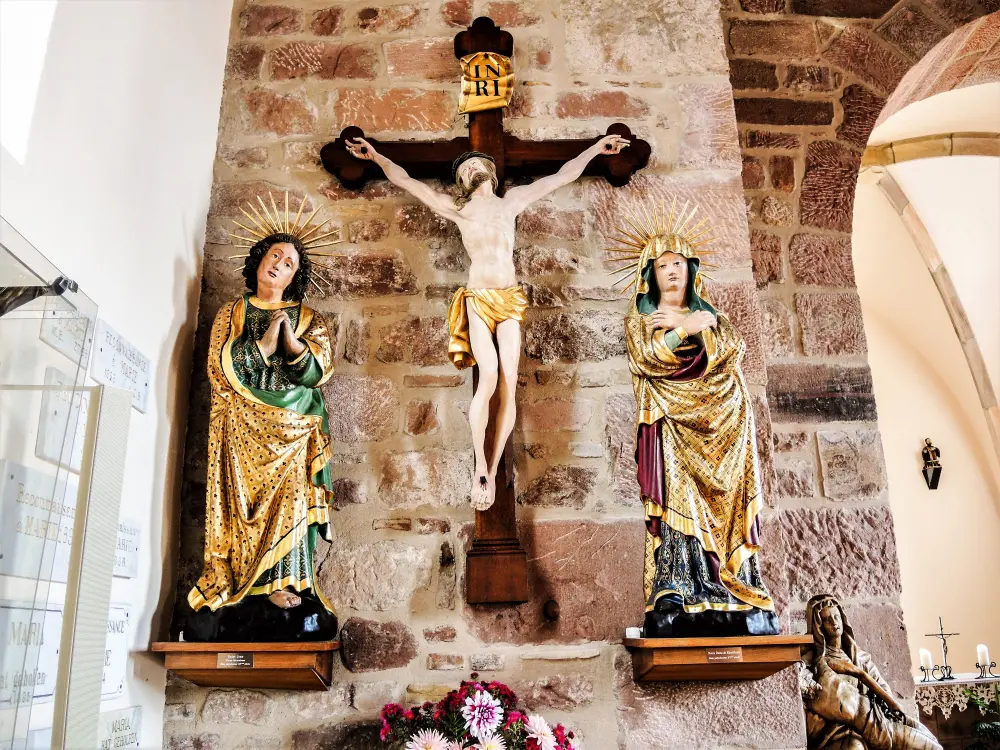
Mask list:
[[[0,709],[52,698],[61,634],[62,610],[0,603]]]

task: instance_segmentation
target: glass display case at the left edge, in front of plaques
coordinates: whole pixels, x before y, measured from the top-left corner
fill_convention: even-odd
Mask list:
[[[73,653],[97,307],[61,279],[0,220],[0,748],[53,746]]]

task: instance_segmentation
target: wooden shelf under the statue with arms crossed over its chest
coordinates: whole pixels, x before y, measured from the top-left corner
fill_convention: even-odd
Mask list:
[[[760,680],[799,660],[808,635],[626,638],[636,682]]]

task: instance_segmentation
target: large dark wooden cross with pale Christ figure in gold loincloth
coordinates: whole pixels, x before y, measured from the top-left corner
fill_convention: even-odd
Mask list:
[[[489,18],[455,36],[455,56],[513,54],[514,38]],[[494,89],[499,95],[499,85]],[[478,88],[476,89],[478,91]],[[490,93],[482,88],[480,93]],[[449,353],[457,367],[476,365],[469,421],[476,449],[470,496],[475,534],[466,558],[470,604],[528,599],[528,568],[517,535],[513,460],[514,391],[521,353],[520,321],[527,300],[514,276],[514,220],[581,175],[626,185],[649,161],[650,146],[615,123],[603,137],[523,141],[503,130],[503,109],[469,113],[469,136],[445,142],[381,142],[345,128],[321,151],[324,167],[349,189],[385,178],[442,218],[453,221],[472,259],[468,288],[449,310]],[[538,177],[504,190],[505,177]],[[457,181],[459,199],[421,179]],[[495,439],[497,436],[498,439]]]

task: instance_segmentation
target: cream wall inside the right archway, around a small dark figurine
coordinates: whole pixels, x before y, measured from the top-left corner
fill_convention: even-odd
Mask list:
[[[998,467],[947,311],[877,179],[868,171],[859,180],[854,268],[889,476],[911,661],[917,673],[918,649],[927,648],[940,663],[939,642],[924,634],[936,631],[942,616],[948,631],[961,634],[949,640],[949,663],[956,672],[972,672],[977,643],[986,643],[994,658],[1000,656],[1000,602],[994,593],[1000,577]],[[975,217],[953,213],[952,220]],[[1000,244],[992,251],[1000,253]],[[967,262],[975,267],[979,261],[970,257]],[[920,473],[926,437],[941,449],[944,467],[934,491]]]

